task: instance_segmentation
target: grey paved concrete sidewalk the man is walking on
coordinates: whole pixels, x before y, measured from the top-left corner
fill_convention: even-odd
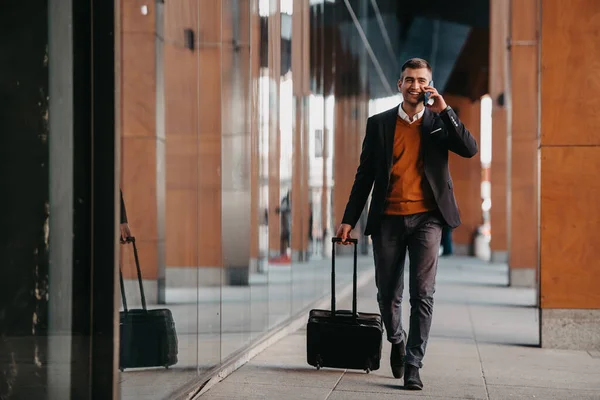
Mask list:
[[[600,354],[537,347],[535,291],[506,284],[505,265],[465,257],[440,260],[434,323],[421,370],[423,391],[405,391],[403,380],[392,378],[387,342],[378,371],[317,371],[306,363],[302,329],[200,398],[600,399]],[[377,312],[375,293],[373,283],[360,289],[360,311]],[[349,307],[350,299],[340,306]],[[408,301],[404,310],[407,324]]]

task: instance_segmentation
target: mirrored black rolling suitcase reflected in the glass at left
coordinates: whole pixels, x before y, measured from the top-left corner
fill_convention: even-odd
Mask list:
[[[142,271],[138,259],[135,238],[128,238],[133,244],[133,254],[137,269],[142,309],[129,310],[123,286],[123,273],[119,269],[123,309],[120,312],[121,349],[119,368],[165,367],[177,363],[177,334],[173,315],[168,309],[146,309],[146,296],[142,284]]]

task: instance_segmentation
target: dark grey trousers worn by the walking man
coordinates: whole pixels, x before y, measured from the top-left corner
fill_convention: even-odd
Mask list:
[[[372,234],[377,301],[393,343],[406,343],[405,362],[421,368],[433,316],[435,275],[442,236],[439,211],[382,217],[381,229]],[[402,294],[406,250],[410,261],[410,329],[408,342],[402,329]]]

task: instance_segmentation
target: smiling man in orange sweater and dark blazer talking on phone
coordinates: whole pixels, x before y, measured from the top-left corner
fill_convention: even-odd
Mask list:
[[[377,301],[392,344],[394,377],[420,390],[433,315],[442,227],[460,225],[448,170],[448,151],[477,154],[477,143],[456,113],[430,86],[429,63],[404,63],[398,90],[403,102],[370,117],[360,164],[337,236],[346,240],[373,189],[366,235],[373,239]],[[425,104],[425,94],[430,100]],[[402,328],[404,262],[410,259],[410,327]]]

